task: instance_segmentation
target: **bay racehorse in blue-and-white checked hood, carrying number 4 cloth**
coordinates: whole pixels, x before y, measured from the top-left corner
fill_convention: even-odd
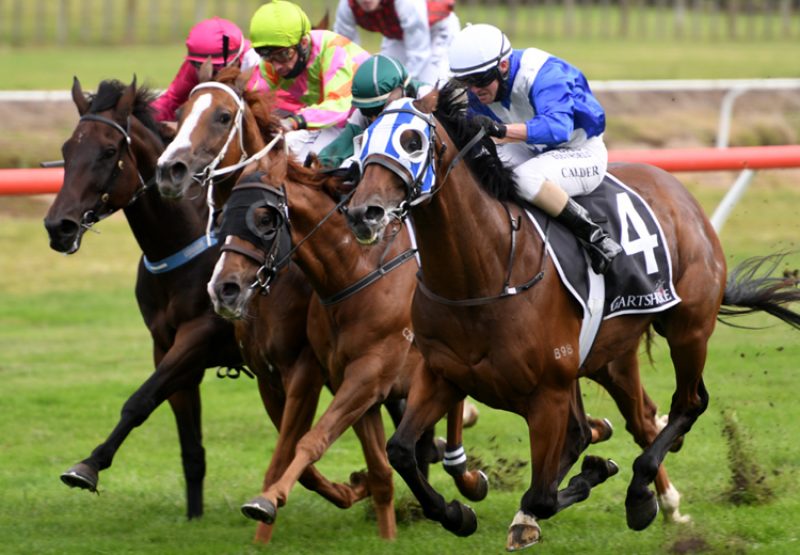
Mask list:
[[[658,510],[648,485],[666,452],[708,405],[702,371],[718,316],[739,307],[800,327],[800,314],[786,306],[800,299],[800,291],[786,280],[756,277],[774,257],[748,262],[726,282],[716,233],[680,182],[651,166],[615,165],[610,173],[641,195],[660,222],[682,300],[662,312],[603,320],[580,364],[580,307],[514,196],[511,173],[494,143],[464,118],[461,92],[448,86],[387,107],[368,130],[382,140],[362,152],[363,175],[347,209],[353,233],[364,244],[381,241],[406,216],[417,230],[423,270],[412,321],[428,365],[423,379],[412,384],[403,420],[389,441],[391,464],[425,514],[450,528],[458,513],[446,510],[443,498],[409,464],[420,431],[465,394],[521,415],[529,427],[532,481],[506,547],[536,543],[537,519],[585,498],[604,477],[602,465],[593,475],[594,463],[584,461],[581,473],[558,491],[586,445],[575,431],[575,420],[583,419],[574,407],[575,380],[587,376],[602,383],[609,375],[638,374],[640,338],[652,326],[669,344],[676,390],[666,427],[642,445],[633,465],[627,521],[632,529],[644,529]],[[394,155],[380,147],[383,139]],[[615,396],[618,404],[623,397]]]

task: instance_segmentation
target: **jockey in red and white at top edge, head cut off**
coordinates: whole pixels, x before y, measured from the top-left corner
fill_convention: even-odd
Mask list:
[[[447,79],[447,46],[461,24],[455,0],[339,0],[333,30],[358,42],[359,27],[380,33],[381,54],[408,68],[413,79]]]

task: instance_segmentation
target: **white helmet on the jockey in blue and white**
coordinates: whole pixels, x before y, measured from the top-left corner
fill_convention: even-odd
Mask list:
[[[467,25],[453,38],[447,57],[453,77],[484,73],[511,55],[511,42],[494,25]]]

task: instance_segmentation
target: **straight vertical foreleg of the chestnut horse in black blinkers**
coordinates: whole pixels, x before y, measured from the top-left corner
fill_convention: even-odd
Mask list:
[[[361,440],[364,460],[367,462],[367,482],[372,494],[372,504],[378,519],[378,532],[384,539],[397,536],[394,513],[394,486],[392,467],[386,456],[386,435],[383,430],[380,407],[374,406],[353,423],[353,430]]]

